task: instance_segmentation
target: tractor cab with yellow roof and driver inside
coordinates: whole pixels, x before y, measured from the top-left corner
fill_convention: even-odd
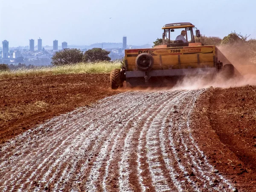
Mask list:
[[[201,43],[195,43],[194,34],[198,38],[201,35],[200,31],[192,23],[169,23],[163,26],[162,29],[164,47],[188,47],[202,45]],[[179,35],[179,40],[176,40]]]

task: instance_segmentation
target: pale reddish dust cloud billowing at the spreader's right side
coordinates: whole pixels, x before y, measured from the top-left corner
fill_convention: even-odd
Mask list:
[[[239,47],[239,48],[238,48]],[[218,73],[216,76],[187,76],[178,81],[172,88],[177,89],[199,89],[206,87],[239,87],[244,85],[256,85],[256,64],[251,62],[251,57],[242,45],[236,47],[221,46],[218,49],[226,56],[229,62],[235,67],[235,77],[227,79],[223,74]]]

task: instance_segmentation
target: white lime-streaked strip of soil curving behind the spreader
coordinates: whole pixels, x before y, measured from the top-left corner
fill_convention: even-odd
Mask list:
[[[190,119],[202,90],[126,92],[2,146],[2,191],[230,191]]]

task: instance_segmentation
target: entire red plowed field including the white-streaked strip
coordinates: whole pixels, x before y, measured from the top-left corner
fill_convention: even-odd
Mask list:
[[[107,75],[42,78],[0,82],[1,191],[256,191],[256,87],[112,91]]]

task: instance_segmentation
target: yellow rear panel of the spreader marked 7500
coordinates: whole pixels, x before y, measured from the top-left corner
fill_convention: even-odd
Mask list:
[[[151,70],[191,69],[215,67],[215,46],[166,47],[150,49],[126,49],[126,70],[137,70],[135,60],[138,55],[147,52],[154,58]]]

